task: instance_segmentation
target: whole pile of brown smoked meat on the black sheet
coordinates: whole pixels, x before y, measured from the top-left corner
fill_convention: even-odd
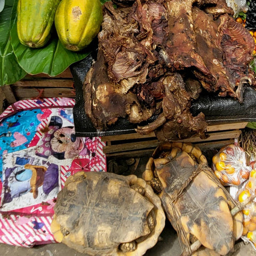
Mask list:
[[[191,114],[191,102],[202,91],[243,102],[244,85],[256,85],[254,40],[233,14],[225,0],[105,3],[83,87],[95,129],[126,118],[159,140],[203,138],[205,116]]]

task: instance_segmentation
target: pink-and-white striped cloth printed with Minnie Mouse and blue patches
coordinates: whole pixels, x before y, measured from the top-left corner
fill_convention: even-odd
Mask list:
[[[15,102],[0,115],[0,242],[54,242],[53,206],[78,171],[106,171],[105,143],[76,137],[74,99]],[[6,218],[7,217],[7,218]]]

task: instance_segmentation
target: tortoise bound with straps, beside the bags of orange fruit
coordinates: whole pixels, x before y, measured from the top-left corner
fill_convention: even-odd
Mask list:
[[[190,238],[225,255],[242,235],[243,215],[233,218],[235,201],[221,185],[201,150],[181,142],[164,143],[149,159],[143,178],[157,187],[163,208],[178,231],[183,255]],[[157,184],[157,186],[156,186]]]

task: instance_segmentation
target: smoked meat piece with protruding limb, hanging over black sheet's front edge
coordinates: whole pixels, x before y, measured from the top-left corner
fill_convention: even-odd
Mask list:
[[[179,73],[166,74],[162,83],[165,94],[162,101],[163,113],[153,123],[138,126],[135,130],[140,134],[157,130],[159,140],[183,139],[195,132],[203,137],[207,127],[204,115],[200,113],[193,117],[190,113],[191,98],[182,76]],[[166,131],[166,127],[169,131]]]

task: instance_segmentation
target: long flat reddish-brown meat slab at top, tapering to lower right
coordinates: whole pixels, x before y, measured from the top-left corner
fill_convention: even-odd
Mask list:
[[[166,1],[169,36],[166,46],[161,49],[161,57],[165,65],[171,68],[172,71],[185,68],[195,69],[196,76],[200,76],[205,81],[214,84],[215,79],[206,68],[197,49],[192,17],[194,2],[196,1]]]

